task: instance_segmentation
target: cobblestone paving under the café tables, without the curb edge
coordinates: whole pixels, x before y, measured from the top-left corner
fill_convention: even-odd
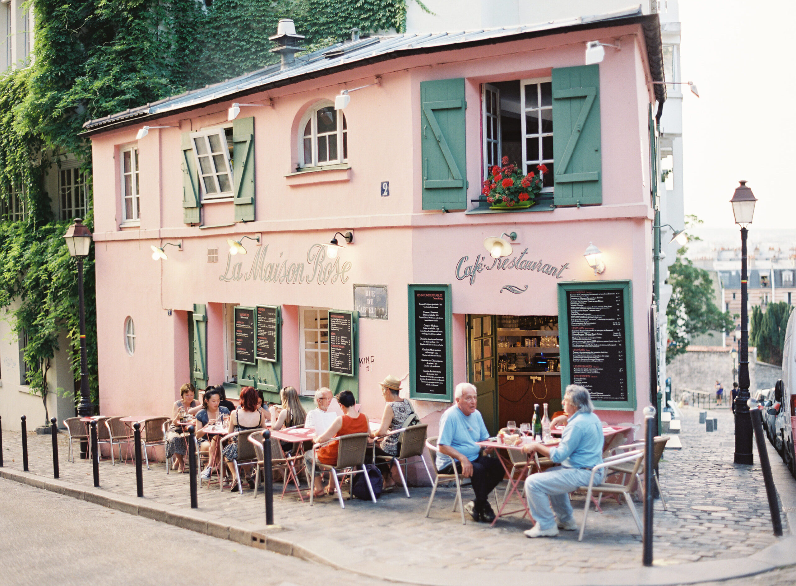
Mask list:
[[[771,532],[763,477],[755,455],[755,466],[732,463],[734,436],[732,413],[710,412],[719,420],[717,432],[704,432],[696,408],[685,408],[680,451],[667,450],[661,459],[661,486],[668,511],[655,502],[656,564],[681,564],[702,560],[731,560],[747,557],[776,542]],[[19,434],[4,433],[6,467],[21,470]],[[50,436],[29,436],[30,471],[52,478]],[[90,463],[65,461],[66,440],[60,436],[60,478],[92,486]],[[104,490],[135,496],[135,467],[131,463],[100,463],[100,484]],[[281,490],[280,484],[275,484]],[[494,528],[467,522],[452,510],[454,490],[441,488],[425,518],[428,488],[410,489],[412,498],[396,490],[384,494],[377,504],[346,502],[341,510],[337,498],[321,498],[310,508],[298,497],[275,498],[275,522],[284,528],[286,539],[300,542],[321,555],[345,553],[345,565],[357,561],[394,564],[400,551],[406,572],[423,568],[518,571],[590,572],[599,569],[638,568],[641,565],[641,538],[626,504],[603,499],[603,514],[589,514],[583,541],[577,532],[562,532],[555,539],[529,540],[522,534],[531,526],[519,516],[498,520]],[[187,475],[166,475],[162,463],[144,470],[146,499],[189,509]],[[467,499],[468,491],[464,498]],[[470,493],[471,494],[471,493]],[[199,490],[199,506],[209,518],[234,518],[264,526],[262,494],[252,498],[221,492],[207,486]],[[576,520],[583,511],[583,496],[573,498]],[[641,502],[636,503],[642,514]],[[704,512],[693,506],[720,506],[727,510]],[[783,519],[784,522],[784,519]],[[790,528],[785,527],[785,534]],[[398,548],[398,549],[396,549]]]

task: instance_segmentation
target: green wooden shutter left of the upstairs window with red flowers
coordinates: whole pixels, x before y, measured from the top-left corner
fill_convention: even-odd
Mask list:
[[[464,78],[420,83],[423,209],[466,209]]]

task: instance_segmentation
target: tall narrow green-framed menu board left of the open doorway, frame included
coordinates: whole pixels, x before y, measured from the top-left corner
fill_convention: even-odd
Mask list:
[[[447,286],[409,287],[412,396],[450,399],[450,290]]]

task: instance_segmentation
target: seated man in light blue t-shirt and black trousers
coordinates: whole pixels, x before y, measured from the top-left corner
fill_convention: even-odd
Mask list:
[[[487,439],[490,433],[476,409],[478,392],[475,387],[470,383],[459,383],[454,398],[456,404],[448,408],[439,420],[437,470],[440,474],[453,474],[455,464],[459,474],[470,478],[475,500],[468,502],[464,510],[474,521],[491,523],[495,514],[487,499],[503,479],[503,467],[497,458],[482,454],[476,443]]]

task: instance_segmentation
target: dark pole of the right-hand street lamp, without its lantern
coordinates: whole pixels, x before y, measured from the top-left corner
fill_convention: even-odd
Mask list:
[[[748,230],[741,229],[741,340],[738,352],[738,397],[736,397],[736,464],[753,464],[751,454],[751,416],[749,394],[749,315],[747,304],[747,239]]]

